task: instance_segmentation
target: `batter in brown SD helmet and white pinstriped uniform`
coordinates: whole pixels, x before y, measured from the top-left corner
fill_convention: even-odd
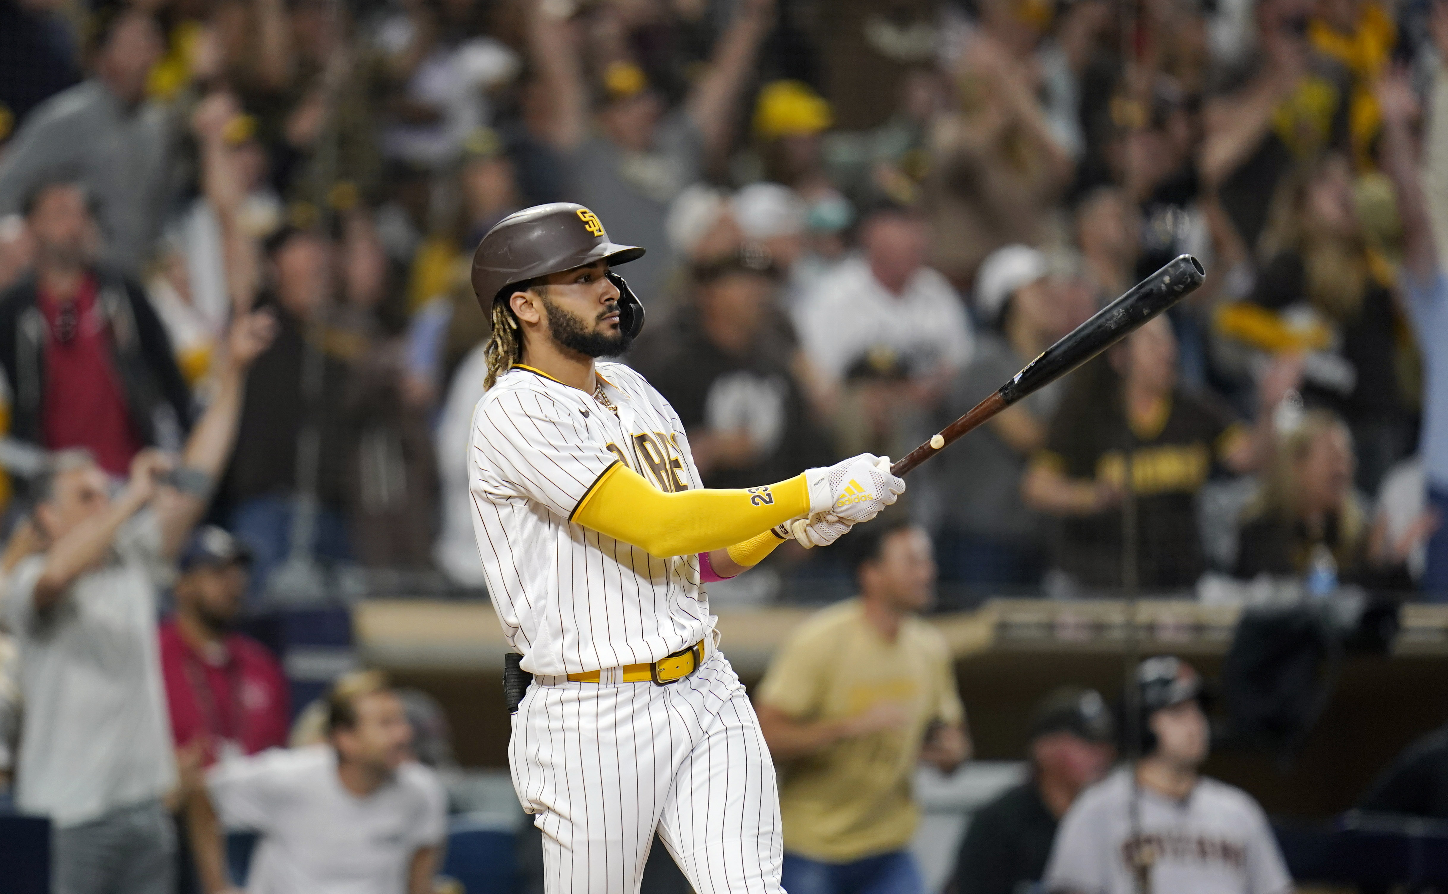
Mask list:
[[[492,323],[469,491],[488,594],[533,684],[508,761],[543,832],[547,891],[637,891],[654,832],[701,894],[780,891],[769,751],[717,651],[704,584],[789,536],[834,542],[905,490],[869,454],[773,484],[705,490],[678,413],[623,354],[643,306],[578,204],[484,236]]]

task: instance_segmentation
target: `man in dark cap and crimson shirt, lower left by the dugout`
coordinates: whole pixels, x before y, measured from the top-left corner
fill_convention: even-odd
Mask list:
[[[266,646],[236,632],[252,553],[220,527],[201,527],[180,558],[175,613],[161,624],[161,674],[178,748],[204,764],[287,745],[290,695]]]

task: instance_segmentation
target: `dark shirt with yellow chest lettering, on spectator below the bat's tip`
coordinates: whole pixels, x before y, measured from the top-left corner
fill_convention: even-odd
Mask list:
[[[1121,378],[1098,367],[1067,391],[1051,420],[1037,462],[1056,465],[1069,478],[1124,480],[1132,445],[1137,494],[1138,584],[1171,590],[1190,587],[1206,568],[1196,523],[1196,494],[1216,461],[1245,435],[1228,410],[1206,396],[1174,388],[1156,432],[1129,430]],[[1060,523],[1057,567],[1085,587],[1119,587],[1122,514],[1111,509]]]

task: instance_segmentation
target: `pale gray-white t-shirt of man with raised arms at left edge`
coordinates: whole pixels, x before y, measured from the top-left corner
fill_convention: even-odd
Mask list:
[[[175,782],[156,646],[156,588],[169,565],[143,510],[120,527],[110,562],[36,614],[43,569],[43,555],[22,561],[4,594],[25,700],[16,806],[65,827],[159,798]]]

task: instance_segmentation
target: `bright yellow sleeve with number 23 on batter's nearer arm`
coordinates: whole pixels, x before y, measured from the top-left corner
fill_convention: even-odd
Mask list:
[[[579,500],[572,520],[666,558],[724,549],[807,514],[809,487],[804,475],[749,490],[669,494],[615,462]]]

